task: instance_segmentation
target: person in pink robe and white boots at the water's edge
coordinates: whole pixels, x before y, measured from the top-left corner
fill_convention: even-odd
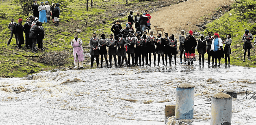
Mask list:
[[[78,35],[74,36],[75,38],[71,41],[71,46],[73,47],[73,56],[75,68],[83,67],[82,61],[85,60],[84,51],[82,49],[82,40],[78,38]]]

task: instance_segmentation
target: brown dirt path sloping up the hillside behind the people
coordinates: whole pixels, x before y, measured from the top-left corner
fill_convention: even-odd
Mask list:
[[[156,35],[154,26],[164,28],[169,35],[174,34],[178,38],[182,29],[187,33],[190,29],[199,30],[195,25],[204,22],[210,12],[216,8],[229,5],[232,0],[188,0],[172,6],[160,8],[151,13],[151,29]],[[158,32],[158,33],[161,33]]]

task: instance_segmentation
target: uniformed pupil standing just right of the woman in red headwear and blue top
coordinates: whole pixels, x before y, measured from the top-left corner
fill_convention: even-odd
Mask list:
[[[230,65],[230,54],[231,54],[231,43],[232,43],[232,39],[231,39],[231,35],[228,34],[227,35],[227,40],[222,42],[222,44],[225,44],[223,52],[225,54],[225,65],[227,65],[227,59],[228,59],[228,65]]]

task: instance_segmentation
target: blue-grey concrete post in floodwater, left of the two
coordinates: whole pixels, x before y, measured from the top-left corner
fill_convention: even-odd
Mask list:
[[[180,84],[176,88],[176,119],[193,119],[194,87],[190,84]]]

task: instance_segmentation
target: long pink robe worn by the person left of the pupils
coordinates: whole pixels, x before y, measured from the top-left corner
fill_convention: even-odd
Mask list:
[[[79,41],[80,41],[80,44],[79,44]],[[74,43],[71,43],[71,46],[73,47],[74,61],[81,62],[85,60],[84,51],[82,50],[82,40],[80,38],[78,38],[77,41],[73,39],[73,42]],[[76,55],[77,55],[77,58],[76,58]]]

